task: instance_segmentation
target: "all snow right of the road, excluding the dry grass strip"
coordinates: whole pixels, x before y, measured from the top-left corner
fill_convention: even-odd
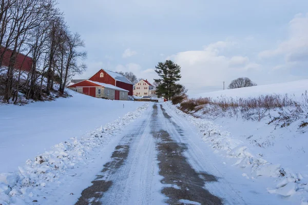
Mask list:
[[[241,89],[209,92],[195,97],[221,96],[236,98],[258,97],[266,94],[292,96],[302,102],[302,94],[307,90],[308,80],[283,84],[264,85]],[[204,141],[215,152],[226,158],[236,158],[234,165],[239,167],[247,180],[265,180],[267,192],[282,197],[290,197],[295,204],[308,204],[308,128],[299,126],[306,122],[305,112],[298,119],[284,126],[276,126],[269,117],[260,121],[244,120],[241,117],[210,116],[203,109],[193,115],[183,113],[176,106],[168,104],[180,116],[188,119],[202,133]],[[287,109],[287,108],[286,108]],[[279,109],[269,110],[271,115]],[[299,202],[301,201],[301,202]]]

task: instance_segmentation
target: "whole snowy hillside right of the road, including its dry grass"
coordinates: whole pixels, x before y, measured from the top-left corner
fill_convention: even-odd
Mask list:
[[[216,153],[236,158],[232,165],[247,180],[308,204],[307,86],[308,80],[299,80],[208,92],[178,104],[185,113],[172,108],[199,129]]]

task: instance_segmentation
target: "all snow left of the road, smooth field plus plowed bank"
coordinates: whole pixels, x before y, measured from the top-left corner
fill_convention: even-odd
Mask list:
[[[78,182],[78,174],[86,174],[79,180],[86,179],[97,169],[89,169],[91,162],[112,136],[147,107],[78,93],[22,107],[0,106],[0,204],[36,202],[48,190],[59,189],[59,183]]]

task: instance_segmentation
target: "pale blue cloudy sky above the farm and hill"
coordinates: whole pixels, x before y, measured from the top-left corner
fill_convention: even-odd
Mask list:
[[[237,77],[259,85],[308,77],[307,0],[63,0],[85,39],[86,78],[100,68],[152,82],[159,61],[182,68],[189,94]]]

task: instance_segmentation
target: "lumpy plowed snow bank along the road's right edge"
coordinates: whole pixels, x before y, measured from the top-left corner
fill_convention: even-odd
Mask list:
[[[227,157],[236,158],[235,166],[248,168],[250,177],[244,173],[247,178],[257,179],[260,176],[273,177],[276,179],[277,186],[268,188],[268,193],[275,193],[281,196],[291,196],[298,193],[302,196],[308,196],[307,179],[300,173],[293,173],[292,170],[284,170],[278,163],[271,163],[262,158],[262,155],[255,154],[245,146],[239,138],[232,137],[229,132],[221,131],[219,126],[213,121],[195,118],[179,110],[177,106],[167,103],[168,107],[176,112],[182,118],[187,119],[202,134],[202,138],[207,142],[215,152],[222,152]],[[308,176],[306,176],[308,177]],[[305,204],[302,199],[302,204]]]

